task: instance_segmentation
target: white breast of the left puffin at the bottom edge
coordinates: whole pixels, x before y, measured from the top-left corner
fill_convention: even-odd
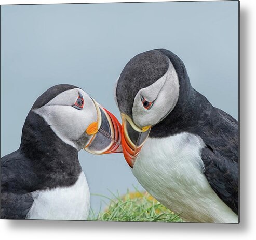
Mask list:
[[[35,191],[34,203],[26,219],[86,220],[90,192],[84,172],[71,187]]]

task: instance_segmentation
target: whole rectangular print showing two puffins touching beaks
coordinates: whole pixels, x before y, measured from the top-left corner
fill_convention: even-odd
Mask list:
[[[1,6],[1,218],[239,223],[238,28],[238,1]]]

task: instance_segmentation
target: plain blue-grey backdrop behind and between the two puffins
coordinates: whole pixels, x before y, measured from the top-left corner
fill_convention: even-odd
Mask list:
[[[1,6],[1,157],[19,147],[33,102],[56,84],[83,88],[120,120],[114,82],[155,48],[176,53],[192,86],[238,119],[237,1]],[[91,193],[142,189],[122,154],[79,159]],[[101,199],[91,197],[95,211]]]

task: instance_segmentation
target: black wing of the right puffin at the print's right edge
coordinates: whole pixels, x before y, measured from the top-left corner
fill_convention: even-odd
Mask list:
[[[222,201],[238,214],[239,208],[239,137],[238,122],[220,109],[215,109],[213,129],[201,134],[206,147],[201,152],[205,175],[211,188]]]

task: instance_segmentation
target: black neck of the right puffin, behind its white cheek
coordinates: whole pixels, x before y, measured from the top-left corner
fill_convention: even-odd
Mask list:
[[[172,62],[179,78],[180,93],[174,109],[151,128],[149,136],[153,138],[168,137],[187,131],[191,124],[200,121],[201,114],[198,113],[204,112],[206,109],[213,111],[213,107],[207,99],[192,88],[190,78],[181,59],[170,51],[164,49],[159,51],[166,54]],[[205,101],[202,101],[203,98]]]

